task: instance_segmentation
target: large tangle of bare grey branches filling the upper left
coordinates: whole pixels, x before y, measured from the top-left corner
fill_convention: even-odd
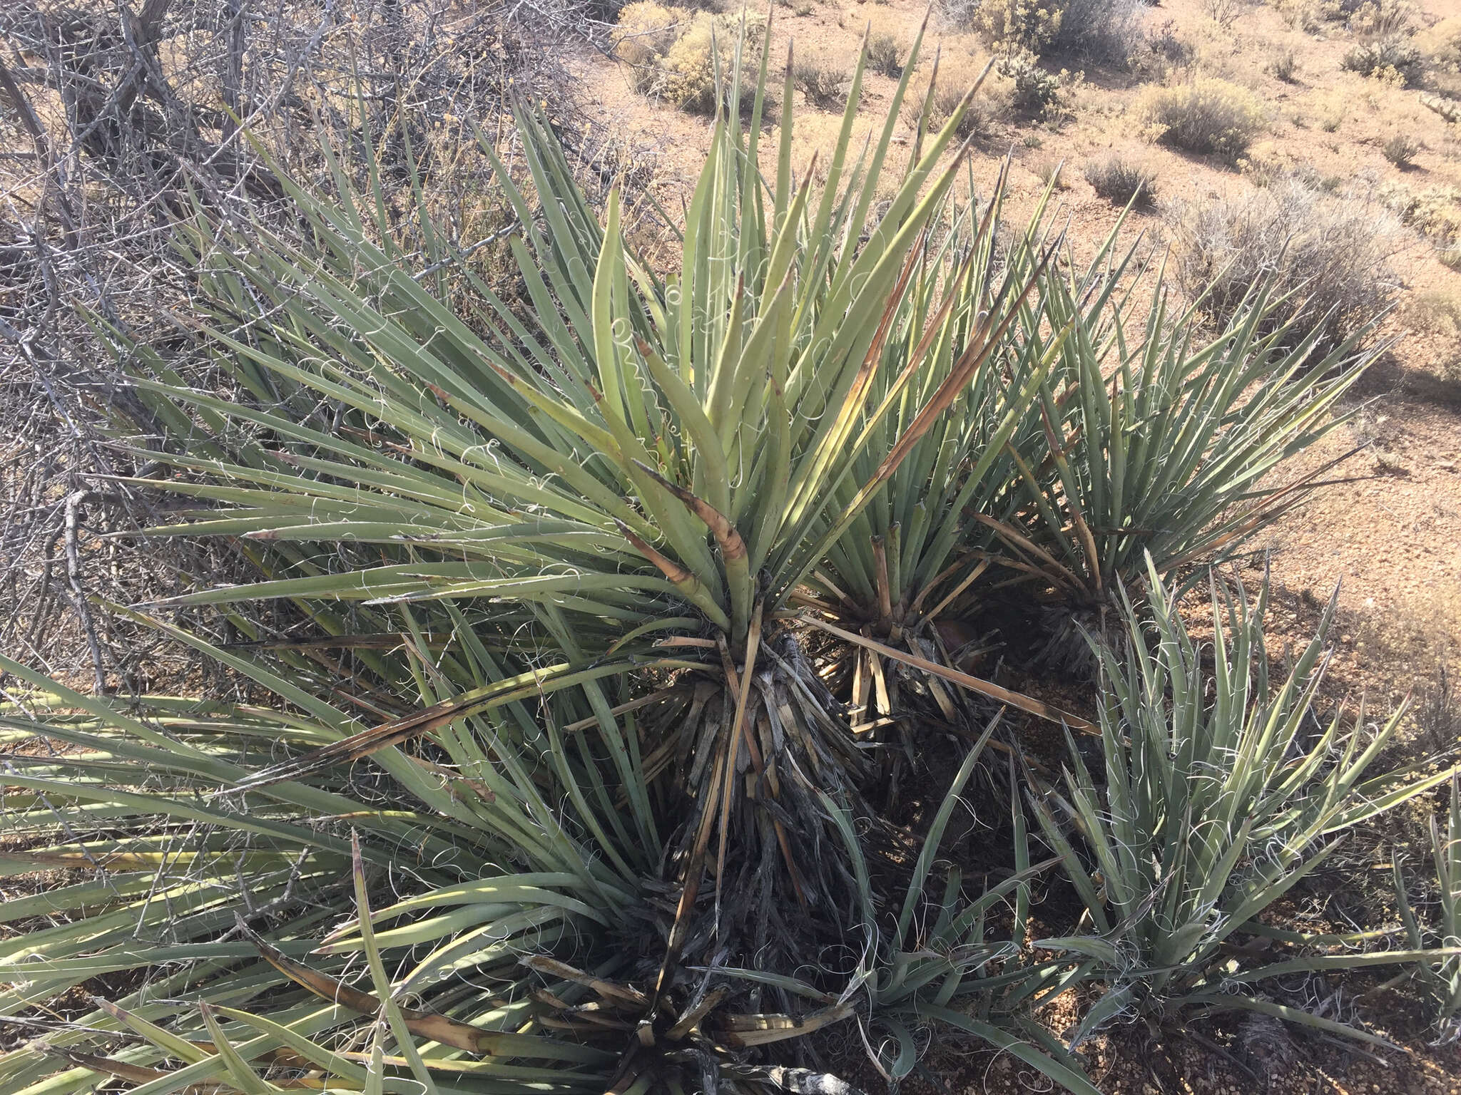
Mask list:
[[[514,218],[473,123],[500,117],[510,93],[551,98],[581,152],[562,39],[599,16],[574,0],[0,3],[15,79],[0,91],[0,650],[88,691],[228,686],[112,607],[257,571],[222,539],[134,536],[169,518],[124,479],[156,464],[114,438],[155,438],[156,422],[88,320],[156,346],[180,383],[213,388],[212,359],[177,320],[196,311],[177,218],[196,201],[202,216],[291,238],[298,210],[263,155],[307,188],[329,187],[321,146],[362,185],[346,150],[371,149],[389,194],[381,220],[432,270],[424,286],[457,304],[476,279],[514,301],[500,235]],[[432,239],[397,219],[416,200],[437,220]],[[365,220],[374,239],[387,231]],[[219,639],[235,626],[168,618]],[[295,619],[275,604],[237,626],[273,635]]]

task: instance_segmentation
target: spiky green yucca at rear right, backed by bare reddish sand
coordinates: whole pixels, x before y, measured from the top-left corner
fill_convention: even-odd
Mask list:
[[[1049,267],[1023,333],[1069,327],[1042,438],[1015,454],[1018,504],[979,518],[1007,564],[1065,604],[1109,606],[1119,583],[1137,588],[1144,556],[1161,575],[1220,561],[1302,502],[1321,473],[1271,473],[1349,418],[1335,404],[1376,350],[1359,347],[1365,328],[1315,361],[1322,324],[1268,330],[1281,298],[1254,286],[1205,331],[1201,301],[1173,311],[1161,267],[1113,239],[1084,272]]]

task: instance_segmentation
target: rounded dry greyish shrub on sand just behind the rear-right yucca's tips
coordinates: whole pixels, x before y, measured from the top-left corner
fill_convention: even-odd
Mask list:
[[[1277,274],[1292,295],[1274,310],[1274,326],[1293,323],[1297,342],[1321,327],[1325,350],[1384,312],[1395,298],[1391,258],[1398,222],[1365,194],[1324,196],[1299,181],[1249,197],[1176,203],[1169,209],[1180,245],[1182,288],[1223,321],[1254,285]]]

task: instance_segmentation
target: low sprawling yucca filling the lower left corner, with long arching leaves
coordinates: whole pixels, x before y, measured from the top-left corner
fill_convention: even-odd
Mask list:
[[[316,1086],[298,1077],[323,1069],[365,1091],[396,1072],[428,1089],[602,1089],[617,1053],[524,1032],[532,990],[581,990],[519,958],[630,972],[615,930],[640,899],[659,834],[640,796],[614,803],[624,727],[596,718],[581,691],[542,694],[538,675],[504,675],[463,632],[421,666],[419,696],[393,696],[446,701],[408,717],[438,727],[434,759],[387,746],[373,753],[374,778],[333,766],[241,793],[270,753],[339,742],[358,721],[286,666],[281,675],[164,629],[286,707],[131,707],[0,663],[29,685],[3,712],[6,740],[64,746],[9,761],[4,870],[75,879],[6,905],[29,930],[3,946],[0,1009],[53,1021],[32,1021],[44,1041],[0,1057],[0,1085],[85,1091],[110,1076],[143,1092],[262,1092]],[[492,699],[453,720],[463,685]],[[378,934],[365,915],[340,929],[348,911],[368,910],[371,891],[394,888],[413,894],[378,911]],[[358,980],[361,953],[365,984],[343,984]],[[80,987],[115,999],[54,1022],[47,1002]],[[418,1042],[435,1047],[430,1064]],[[73,1067],[57,1073],[57,1063]]]

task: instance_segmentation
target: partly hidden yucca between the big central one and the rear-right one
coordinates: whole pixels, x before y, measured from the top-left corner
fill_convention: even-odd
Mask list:
[[[918,256],[910,293],[882,347],[885,366],[872,377],[865,426],[872,444],[858,447],[852,477],[840,486],[847,502],[858,483],[877,474],[881,454],[907,437],[915,416],[945,388],[961,366],[960,347],[989,314],[1005,307],[1011,280],[1026,280],[1045,261],[1043,200],[1027,228],[1008,245],[1001,242],[1007,171],[1008,161],[982,210],[973,203],[957,215],[951,210],[953,223]],[[792,593],[790,603],[817,613],[818,626],[830,618],[839,637],[862,637],[863,645],[850,651],[852,714],[859,731],[912,714],[916,704],[910,705],[904,682],[929,694],[939,715],[954,717],[947,689],[929,676],[951,660],[932,625],[964,612],[974,600],[974,583],[991,565],[970,537],[970,515],[1008,505],[1017,486],[1011,453],[1030,444],[1033,396],[1058,347],[1058,334],[1002,342],[954,394],[938,423],[913,439],[887,486]],[[897,666],[899,660],[912,664]],[[988,682],[966,683],[1004,698]],[[1068,712],[1058,717],[1083,721]]]

